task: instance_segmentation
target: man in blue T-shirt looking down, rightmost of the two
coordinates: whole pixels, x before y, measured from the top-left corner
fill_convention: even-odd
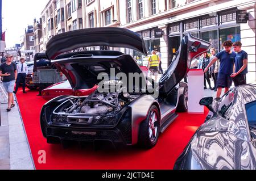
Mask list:
[[[247,53],[241,49],[242,43],[240,41],[236,41],[233,43],[234,51],[237,52],[237,56],[235,58],[235,71],[231,74],[231,77],[234,81],[234,86],[244,85],[246,84],[246,74],[247,71]]]

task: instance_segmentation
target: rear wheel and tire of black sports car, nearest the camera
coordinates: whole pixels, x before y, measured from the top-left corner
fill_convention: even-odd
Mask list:
[[[152,117],[154,117],[154,113],[155,113],[155,118],[157,120],[154,122],[154,128],[152,128],[152,124],[150,125],[150,123],[152,121]],[[153,132],[152,130],[153,129],[155,130],[155,128],[156,128],[156,132]],[[150,133],[150,129],[152,133]],[[156,106],[151,106],[146,120],[144,120],[140,125],[138,145],[146,149],[153,148],[156,145],[156,142],[158,141],[159,133],[160,133],[159,110]],[[151,134],[151,137],[150,137],[150,134]]]

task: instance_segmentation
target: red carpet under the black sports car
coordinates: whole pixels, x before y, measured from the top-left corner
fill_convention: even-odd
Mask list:
[[[63,149],[61,145],[46,143],[40,130],[40,109],[46,102],[36,96],[37,91],[22,90],[16,94],[36,169],[172,169],[176,158],[187,145],[196,129],[204,122],[204,115],[180,113],[179,117],[160,134],[158,144],[150,150],[134,147],[119,150],[93,150],[93,146],[80,148],[73,145]],[[46,163],[38,163],[38,151],[46,151]]]

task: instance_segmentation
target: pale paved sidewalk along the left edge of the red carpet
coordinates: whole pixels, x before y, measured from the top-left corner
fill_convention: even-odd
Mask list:
[[[6,111],[7,100],[3,99],[1,91],[0,98],[0,170],[34,170],[35,166],[16,97],[16,105],[11,112]]]

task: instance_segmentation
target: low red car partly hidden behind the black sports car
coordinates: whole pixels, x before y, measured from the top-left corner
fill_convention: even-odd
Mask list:
[[[46,89],[42,90],[41,94],[46,100],[53,99],[60,95],[85,96],[92,94],[97,87],[98,86],[95,85],[91,89],[72,90],[70,83],[68,81],[63,81],[47,87]]]

